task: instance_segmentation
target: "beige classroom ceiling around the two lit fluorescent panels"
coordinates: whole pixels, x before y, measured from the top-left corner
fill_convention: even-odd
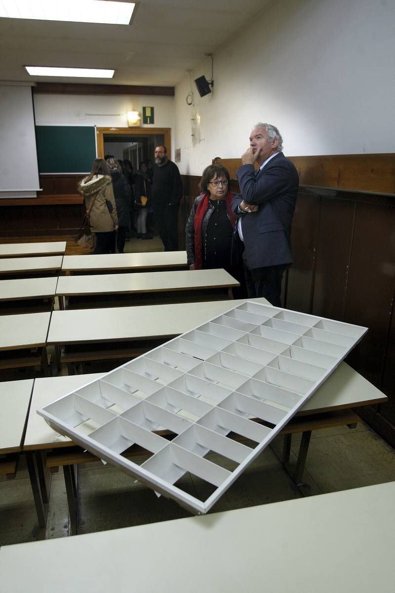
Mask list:
[[[129,26],[0,18],[0,81],[174,86],[270,2],[142,0]],[[25,65],[116,73],[112,79],[29,76]],[[207,70],[209,78],[209,62]]]

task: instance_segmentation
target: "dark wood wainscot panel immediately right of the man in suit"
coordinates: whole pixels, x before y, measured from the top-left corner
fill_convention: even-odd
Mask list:
[[[314,266],[320,199],[303,190],[298,193],[291,243],[294,263],[288,270],[286,308],[309,313],[313,297]]]

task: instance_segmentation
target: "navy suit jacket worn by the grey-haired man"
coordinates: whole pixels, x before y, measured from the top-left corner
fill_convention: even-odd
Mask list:
[[[241,194],[232,200],[232,211],[241,217],[247,266],[254,269],[292,263],[291,224],[299,187],[295,165],[278,152],[257,176],[254,165],[241,165],[236,177]],[[258,211],[240,214],[241,200],[258,205]]]

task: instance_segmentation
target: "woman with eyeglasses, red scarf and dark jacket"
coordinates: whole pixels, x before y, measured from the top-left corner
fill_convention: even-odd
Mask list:
[[[209,165],[203,171],[202,193],[193,202],[185,229],[187,264],[190,270],[223,267],[238,279],[243,278],[243,272],[240,266],[231,265],[235,216],[229,181],[229,172],[222,165]]]

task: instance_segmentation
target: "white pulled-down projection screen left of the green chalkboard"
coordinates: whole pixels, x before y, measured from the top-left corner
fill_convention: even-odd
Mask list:
[[[0,85],[0,197],[36,197],[39,187],[31,87]]]

